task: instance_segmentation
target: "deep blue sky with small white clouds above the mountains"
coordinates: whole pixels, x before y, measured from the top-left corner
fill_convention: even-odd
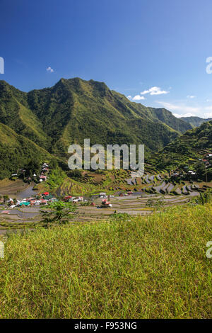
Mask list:
[[[94,79],[145,106],[212,117],[211,12],[211,0],[0,0],[0,79],[23,91]]]

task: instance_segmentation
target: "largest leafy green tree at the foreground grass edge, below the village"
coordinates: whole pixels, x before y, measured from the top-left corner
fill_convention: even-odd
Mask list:
[[[58,223],[59,225],[64,225],[69,222],[70,213],[75,213],[76,205],[73,203],[64,203],[62,201],[57,201],[56,203],[50,203],[48,210],[42,211],[42,220],[45,227],[49,227],[52,223]]]

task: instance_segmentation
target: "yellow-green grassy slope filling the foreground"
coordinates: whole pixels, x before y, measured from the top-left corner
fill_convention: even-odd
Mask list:
[[[11,235],[1,318],[210,318],[212,205]]]

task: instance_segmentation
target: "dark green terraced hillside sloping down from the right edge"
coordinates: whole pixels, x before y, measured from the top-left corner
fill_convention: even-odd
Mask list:
[[[146,162],[157,170],[172,169],[180,164],[191,166],[206,153],[212,153],[212,120],[188,130]]]

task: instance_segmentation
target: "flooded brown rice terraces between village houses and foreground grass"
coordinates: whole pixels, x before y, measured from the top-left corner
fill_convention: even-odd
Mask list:
[[[198,193],[197,193],[198,194]],[[95,206],[77,205],[77,212],[70,214],[70,222],[98,222],[107,220],[114,213],[127,213],[129,215],[147,215],[151,214],[154,208],[148,207],[148,199],[163,198],[165,206],[184,205],[190,201],[192,195],[170,196],[139,193],[132,196],[117,196],[111,198],[112,208],[98,208],[102,199],[95,198]],[[40,222],[39,206],[33,208],[14,208],[0,210],[0,235],[8,231],[24,230],[25,228],[34,229],[42,226]]]

